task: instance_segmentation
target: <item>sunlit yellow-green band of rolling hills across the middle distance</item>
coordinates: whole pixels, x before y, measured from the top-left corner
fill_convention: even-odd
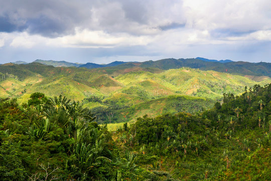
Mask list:
[[[98,95],[105,97],[103,103],[114,101],[129,106],[171,95],[221,100],[223,93],[238,95],[244,91],[244,86],[271,82],[269,77],[244,77],[192,68],[170,69],[159,73],[129,72],[115,78],[102,72],[76,72],[74,68],[58,68],[58,71],[68,73],[58,76],[52,74],[50,77],[36,74],[23,81],[15,78],[0,81],[0,85],[8,88],[8,92],[0,91],[0,97],[21,97],[21,101],[26,101],[32,93],[41,92],[48,97],[63,95],[81,101],[91,95]]]

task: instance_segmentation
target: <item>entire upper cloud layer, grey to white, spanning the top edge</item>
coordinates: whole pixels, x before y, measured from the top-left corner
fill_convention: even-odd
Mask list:
[[[203,7],[193,9],[184,5],[187,2],[193,2],[192,6],[201,3]],[[26,31],[58,37],[73,34],[79,28],[144,35],[188,27],[207,29],[219,37],[271,29],[270,13],[265,13],[270,12],[270,1],[233,2],[0,0],[0,32]]]

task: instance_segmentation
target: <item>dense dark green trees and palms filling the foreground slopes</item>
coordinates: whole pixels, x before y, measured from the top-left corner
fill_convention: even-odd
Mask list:
[[[93,98],[92,102],[95,102]],[[180,103],[182,100],[180,100]],[[270,180],[271,84],[109,132],[66,97],[0,102],[2,180]]]

